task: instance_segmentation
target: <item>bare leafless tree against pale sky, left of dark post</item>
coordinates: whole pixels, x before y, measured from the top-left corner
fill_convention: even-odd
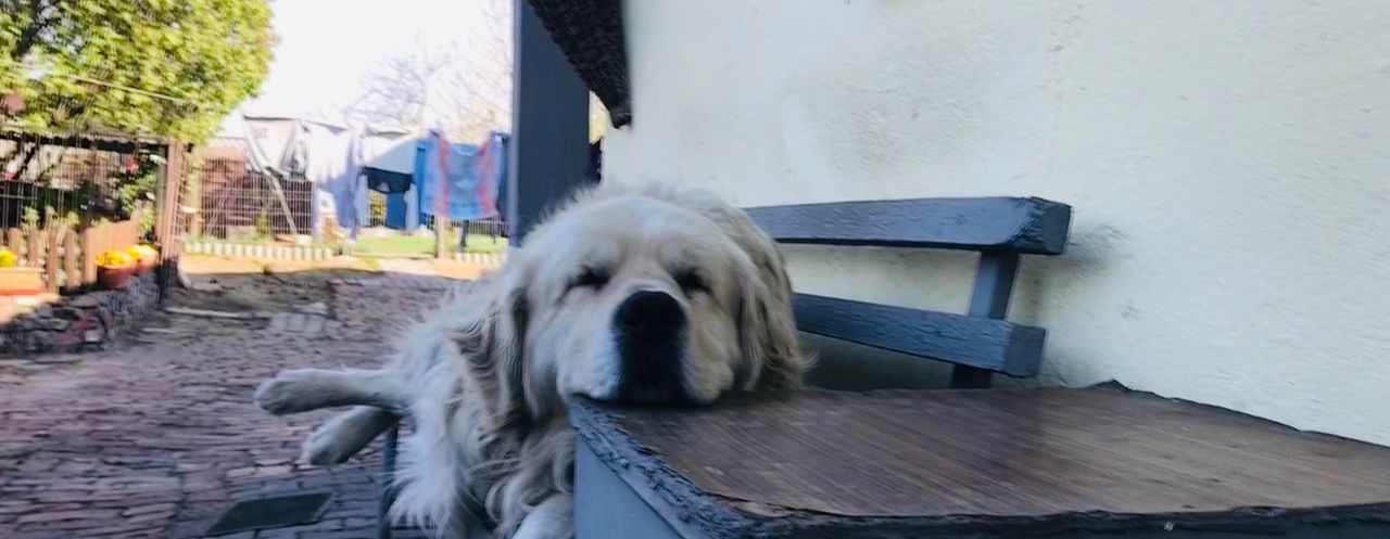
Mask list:
[[[478,22],[445,46],[416,43],[363,78],[363,94],[343,110],[349,121],[441,128],[457,142],[478,142],[512,125],[512,3],[478,0]]]

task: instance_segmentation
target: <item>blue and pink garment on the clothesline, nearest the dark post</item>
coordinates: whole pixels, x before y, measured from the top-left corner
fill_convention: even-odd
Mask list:
[[[498,215],[498,188],[505,176],[506,150],[491,140],[481,149],[452,144],[432,131],[416,154],[420,213],[443,214],[450,221]]]

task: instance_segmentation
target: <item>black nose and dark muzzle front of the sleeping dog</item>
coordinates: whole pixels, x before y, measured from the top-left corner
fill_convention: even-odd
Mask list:
[[[619,400],[684,400],[681,363],[688,320],[680,301],[666,292],[637,292],[623,300],[614,318],[623,361]]]

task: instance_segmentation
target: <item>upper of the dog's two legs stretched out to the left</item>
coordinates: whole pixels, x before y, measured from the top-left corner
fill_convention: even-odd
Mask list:
[[[275,415],[338,406],[375,406],[400,414],[410,406],[410,393],[400,374],[391,370],[296,368],[261,383],[256,406]]]

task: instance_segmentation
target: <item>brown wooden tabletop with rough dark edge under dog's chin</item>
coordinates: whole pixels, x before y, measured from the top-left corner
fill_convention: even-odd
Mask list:
[[[1390,531],[1390,449],[1115,389],[581,403],[570,421],[655,511],[710,538]]]

